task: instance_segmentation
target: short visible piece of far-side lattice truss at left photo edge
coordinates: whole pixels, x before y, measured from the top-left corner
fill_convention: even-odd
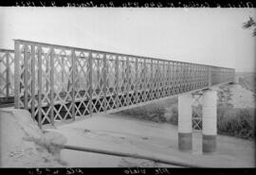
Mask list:
[[[14,51],[0,48],[0,103],[14,96]]]

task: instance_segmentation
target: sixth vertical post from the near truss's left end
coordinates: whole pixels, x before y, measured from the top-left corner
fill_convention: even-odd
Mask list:
[[[72,96],[72,102],[71,102],[71,114],[72,114],[72,120],[75,120],[76,118],[76,112],[75,112],[75,88],[76,88],[76,74],[75,74],[75,70],[76,70],[76,53],[75,53],[75,49],[73,48],[71,50],[71,56],[72,56],[72,72],[71,72],[71,81],[72,81],[72,91],[71,91],[71,96]]]

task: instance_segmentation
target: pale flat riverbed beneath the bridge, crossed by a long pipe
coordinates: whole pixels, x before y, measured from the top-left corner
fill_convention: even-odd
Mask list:
[[[177,128],[170,124],[141,121],[112,114],[92,117],[58,127],[67,145],[153,155],[195,166],[254,167],[254,143],[235,137],[217,136],[217,152],[202,154],[202,134],[193,133],[191,153],[177,149]],[[63,149],[68,166],[170,166],[151,161]],[[172,167],[172,166],[171,166]]]

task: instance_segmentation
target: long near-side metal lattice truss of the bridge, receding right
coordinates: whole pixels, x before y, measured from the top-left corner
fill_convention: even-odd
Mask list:
[[[15,40],[15,108],[39,125],[231,82],[234,69]]]

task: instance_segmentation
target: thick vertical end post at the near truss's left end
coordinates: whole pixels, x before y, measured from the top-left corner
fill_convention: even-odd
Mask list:
[[[14,41],[14,108],[20,108],[20,42]]]

